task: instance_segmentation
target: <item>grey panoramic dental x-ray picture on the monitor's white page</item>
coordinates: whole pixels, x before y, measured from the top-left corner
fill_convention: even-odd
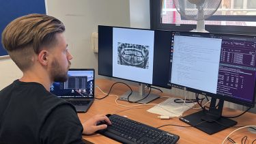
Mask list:
[[[149,47],[140,44],[117,43],[117,63],[124,66],[148,69]]]

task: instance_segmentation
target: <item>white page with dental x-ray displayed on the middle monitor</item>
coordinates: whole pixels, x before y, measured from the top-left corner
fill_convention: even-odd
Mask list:
[[[113,76],[152,84],[154,31],[113,28],[112,40]],[[125,44],[126,46],[124,46]],[[124,47],[120,48],[122,45]],[[143,48],[145,46],[147,48]],[[118,62],[120,57],[119,51],[120,55],[122,55],[120,63]],[[130,72],[134,72],[134,74],[130,74]]]

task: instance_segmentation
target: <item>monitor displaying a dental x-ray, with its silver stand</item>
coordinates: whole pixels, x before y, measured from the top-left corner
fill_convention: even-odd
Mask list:
[[[98,26],[98,74],[140,83],[129,101],[145,98],[145,85],[170,88],[169,48],[171,31]],[[120,100],[128,100],[127,91]],[[150,94],[140,103],[158,95]]]

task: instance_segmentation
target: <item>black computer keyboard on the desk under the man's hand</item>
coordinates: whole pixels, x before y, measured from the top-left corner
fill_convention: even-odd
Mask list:
[[[133,121],[119,115],[106,115],[112,125],[105,130],[98,130],[99,134],[107,136],[120,143],[176,143],[180,136],[165,132],[138,121]]]

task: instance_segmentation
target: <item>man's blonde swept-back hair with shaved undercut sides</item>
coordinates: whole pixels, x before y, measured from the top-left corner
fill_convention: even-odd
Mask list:
[[[20,70],[33,65],[32,57],[42,47],[57,44],[56,33],[63,33],[65,26],[60,20],[46,14],[29,14],[13,20],[2,33],[2,44]]]

